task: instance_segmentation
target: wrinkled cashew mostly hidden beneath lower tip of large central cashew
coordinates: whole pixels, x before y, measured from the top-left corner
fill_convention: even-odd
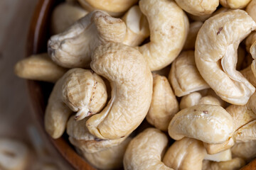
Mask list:
[[[75,116],[71,116],[67,123],[67,133],[70,143],[78,147],[82,152],[95,153],[105,150],[109,147],[114,147],[123,142],[127,137],[122,137],[117,140],[100,140],[90,134],[85,123],[88,118],[80,121],[75,120]]]

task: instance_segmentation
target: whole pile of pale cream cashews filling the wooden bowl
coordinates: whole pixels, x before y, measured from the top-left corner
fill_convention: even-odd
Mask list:
[[[65,1],[48,52],[45,129],[97,169],[240,169],[256,157],[256,0]],[[175,140],[175,141],[174,141]]]

